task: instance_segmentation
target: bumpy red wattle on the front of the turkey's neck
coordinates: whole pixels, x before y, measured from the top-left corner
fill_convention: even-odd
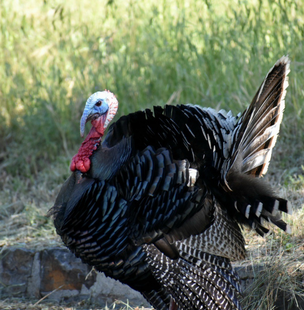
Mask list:
[[[75,171],[76,169],[82,173],[89,171],[91,165],[89,157],[93,154],[93,151],[97,149],[101,137],[104,135],[104,129],[102,130],[102,133],[99,131],[101,131],[99,128],[96,130],[95,126],[91,127],[90,132],[86,136],[86,139],[83,140],[78,153],[72,158],[72,162],[70,164],[71,171]]]

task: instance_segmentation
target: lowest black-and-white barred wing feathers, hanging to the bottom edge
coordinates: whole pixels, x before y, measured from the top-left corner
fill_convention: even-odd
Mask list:
[[[144,245],[157,281],[180,309],[241,310],[240,279],[228,259],[176,243],[180,257],[172,260],[154,245]]]

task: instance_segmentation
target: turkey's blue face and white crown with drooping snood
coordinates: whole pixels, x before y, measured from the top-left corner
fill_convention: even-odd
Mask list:
[[[94,120],[108,111],[109,105],[111,104],[109,94],[112,93],[108,91],[98,91],[91,95],[86,101],[86,106],[80,120],[80,135],[82,137],[84,136],[86,122]]]

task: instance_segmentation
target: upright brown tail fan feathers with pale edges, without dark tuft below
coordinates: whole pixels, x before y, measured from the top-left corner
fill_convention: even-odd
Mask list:
[[[233,133],[228,165],[223,172],[241,171],[254,176],[267,172],[271,151],[279,134],[288,86],[289,58],[283,56],[267,73]]]

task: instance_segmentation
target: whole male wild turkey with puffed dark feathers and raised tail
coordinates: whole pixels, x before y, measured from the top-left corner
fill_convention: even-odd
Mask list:
[[[240,225],[288,232],[285,199],[261,178],[279,133],[289,59],[276,62],[240,116],[165,105],[123,116],[109,91],[90,96],[92,127],[48,215],[84,263],[138,290],[157,310],[241,309],[230,260]],[[239,223],[239,224],[238,224]]]

